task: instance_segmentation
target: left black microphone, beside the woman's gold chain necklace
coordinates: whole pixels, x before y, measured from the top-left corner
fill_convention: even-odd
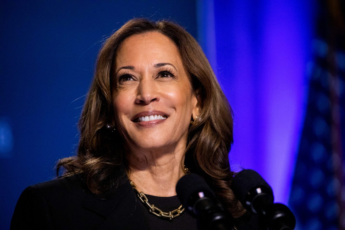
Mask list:
[[[217,202],[206,181],[195,173],[183,176],[176,185],[177,197],[198,220],[198,229],[230,230],[231,216]]]

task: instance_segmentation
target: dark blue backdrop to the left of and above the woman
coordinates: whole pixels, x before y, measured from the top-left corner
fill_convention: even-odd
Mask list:
[[[1,1],[0,229],[30,184],[75,152],[76,123],[104,39],[133,17],[176,20],[196,37],[187,1]]]

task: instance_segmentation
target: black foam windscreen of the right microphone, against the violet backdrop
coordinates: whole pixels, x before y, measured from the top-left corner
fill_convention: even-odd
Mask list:
[[[251,189],[263,188],[265,187],[270,191],[273,197],[272,188],[268,183],[260,176],[259,173],[252,169],[245,169],[236,174],[236,176],[231,180],[231,189],[233,190],[237,199],[245,204],[246,194]]]

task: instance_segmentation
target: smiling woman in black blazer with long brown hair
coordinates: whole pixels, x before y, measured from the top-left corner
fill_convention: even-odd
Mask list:
[[[79,128],[77,156],[59,161],[60,179],[23,191],[12,229],[197,229],[176,198],[187,172],[243,216],[230,189],[231,108],[198,43],[177,24],[133,19],[107,39]],[[150,213],[135,191],[166,214]],[[246,221],[236,219],[237,229],[252,229]]]

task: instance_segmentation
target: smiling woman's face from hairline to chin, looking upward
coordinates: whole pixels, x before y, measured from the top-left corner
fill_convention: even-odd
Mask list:
[[[128,146],[186,147],[199,106],[175,43],[158,32],[127,38],[117,52],[115,75],[115,123]]]

